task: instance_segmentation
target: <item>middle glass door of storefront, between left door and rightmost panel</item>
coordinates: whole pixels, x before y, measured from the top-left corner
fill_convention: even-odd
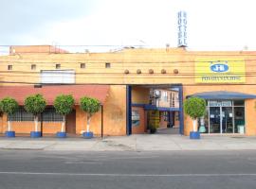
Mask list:
[[[222,133],[233,133],[232,107],[222,107]]]

